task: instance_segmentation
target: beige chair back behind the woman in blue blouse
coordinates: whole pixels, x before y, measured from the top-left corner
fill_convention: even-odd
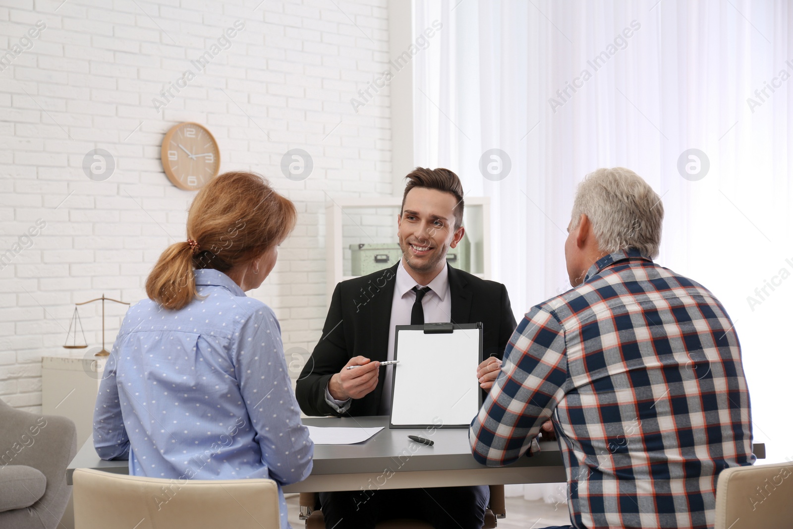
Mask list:
[[[278,529],[269,479],[177,480],[75,470],[78,529]]]

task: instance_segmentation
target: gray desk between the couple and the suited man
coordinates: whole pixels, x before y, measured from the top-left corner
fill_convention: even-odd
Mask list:
[[[506,485],[510,483],[561,483],[565,467],[556,441],[540,443],[542,451],[520,458],[509,466],[491,468],[474,461],[467,428],[435,430],[435,446],[421,446],[411,454],[408,435],[427,436],[423,429],[389,429],[388,417],[312,417],[303,420],[312,426],[378,427],[380,432],[354,445],[315,445],[314,468],[305,481],[284,487],[285,493],[320,493],[368,488],[408,489],[450,485]],[[415,446],[416,443],[413,443]],[[128,473],[126,461],[102,461],[92,439],[82,446],[69,464],[67,482],[75,469]],[[391,475],[393,473],[393,475]]]

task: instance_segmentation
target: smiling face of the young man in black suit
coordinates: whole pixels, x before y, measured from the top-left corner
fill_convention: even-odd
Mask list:
[[[446,251],[462,239],[465,228],[454,229],[454,194],[414,187],[398,217],[399,245],[405,266],[435,277],[446,264]]]

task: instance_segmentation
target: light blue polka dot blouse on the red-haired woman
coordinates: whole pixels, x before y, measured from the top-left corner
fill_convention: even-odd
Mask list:
[[[301,424],[281,327],[261,301],[217,270],[196,270],[199,298],[184,309],[151,300],[127,312],[105,366],[94,411],[102,459],[170,480],[311,473],[314,444]],[[152,499],[165,508],[166,493]],[[156,505],[155,505],[156,504]]]

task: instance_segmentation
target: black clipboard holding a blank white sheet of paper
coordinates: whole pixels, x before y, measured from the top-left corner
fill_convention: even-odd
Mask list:
[[[481,322],[397,325],[389,427],[469,427],[482,405],[483,343]]]

